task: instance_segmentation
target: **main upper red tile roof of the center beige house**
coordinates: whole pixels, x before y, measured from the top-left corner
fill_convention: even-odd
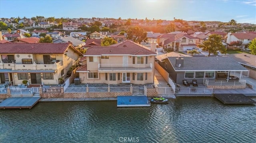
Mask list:
[[[130,40],[110,46],[92,46],[84,55],[157,55],[148,48]]]

